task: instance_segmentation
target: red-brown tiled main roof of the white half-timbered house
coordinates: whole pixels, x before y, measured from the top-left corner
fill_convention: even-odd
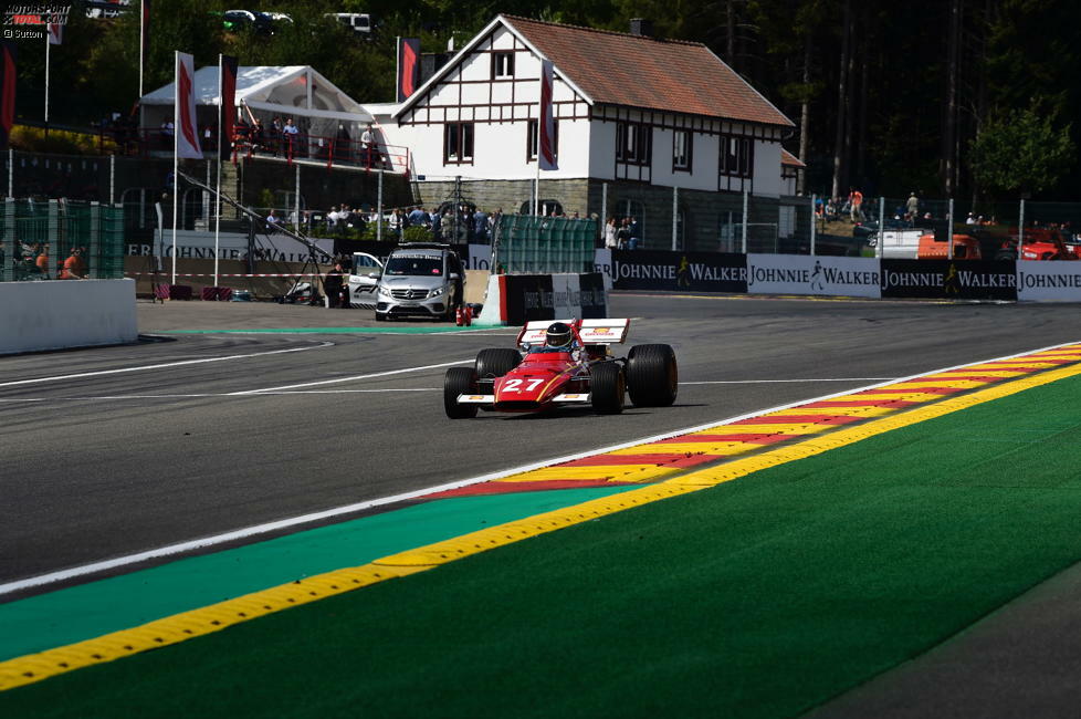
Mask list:
[[[596,103],[793,126],[701,43],[501,18]]]

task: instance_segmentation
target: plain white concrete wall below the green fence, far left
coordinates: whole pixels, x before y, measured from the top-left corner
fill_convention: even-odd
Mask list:
[[[2,282],[0,355],[135,342],[135,281]]]

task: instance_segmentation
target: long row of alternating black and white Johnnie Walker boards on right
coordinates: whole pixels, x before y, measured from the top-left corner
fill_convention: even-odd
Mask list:
[[[1081,261],[598,250],[615,290],[1081,302]]]

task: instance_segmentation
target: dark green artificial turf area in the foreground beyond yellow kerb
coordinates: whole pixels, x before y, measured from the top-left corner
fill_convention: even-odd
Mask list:
[[[0,692],[0,716],[788,717],[1081,559],[1073,378]]]

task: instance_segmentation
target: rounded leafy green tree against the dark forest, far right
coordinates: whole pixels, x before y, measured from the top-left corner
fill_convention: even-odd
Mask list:
[[[973,174],[989,190],[1042,192],[1054,187],[1073,163],[1070,126],[1037,110],[1012,110],[984,125],[972,143]]]

